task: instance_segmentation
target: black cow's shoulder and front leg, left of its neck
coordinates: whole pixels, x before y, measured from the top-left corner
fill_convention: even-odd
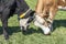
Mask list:
[[[13,8],[12,8],[13,7]],[[8,19],[15,11],[15,1],[14,0],[0,0],[0,19],[2,21],[2,29],[4,37],[8,38]]]

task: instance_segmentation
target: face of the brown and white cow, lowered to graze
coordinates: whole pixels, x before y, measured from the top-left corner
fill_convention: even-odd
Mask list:
[[[51,34],[52,24],[37,14],[35,14],[34,25],[41,28],[44,34]]]

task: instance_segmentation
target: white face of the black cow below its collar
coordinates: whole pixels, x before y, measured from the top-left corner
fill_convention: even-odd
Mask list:
[[[20,28],[23,31],[26,31],[26,29],[29,28],[30,23],[28,23],[30,20],[30,18],[26,19],[20,19]]]

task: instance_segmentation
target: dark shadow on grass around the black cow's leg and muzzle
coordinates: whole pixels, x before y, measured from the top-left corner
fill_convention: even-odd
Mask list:
[[[20,30],[20,26],[9,26],[8,28],[8,33],[9,35],[12,35],[13,33],[18,33],[18,32],[21,32]],[[23,32],[22,32],[23,33]],[[28,30],[28,32],[24,32],[23,34],[24,35],[30,35],[32,33],[42,33],[42,30],[35,30],[33,28],[30,28]],[[3,34],[3,30],[2,30],[2,26],[0,26],[0,34]]]

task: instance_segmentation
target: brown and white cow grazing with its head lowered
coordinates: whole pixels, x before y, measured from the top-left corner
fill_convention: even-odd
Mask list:
[[[66,0],[37,0],[34,24],[41,28],[44,34],[50,34],[53,20],[61,7],[66,7]]]

